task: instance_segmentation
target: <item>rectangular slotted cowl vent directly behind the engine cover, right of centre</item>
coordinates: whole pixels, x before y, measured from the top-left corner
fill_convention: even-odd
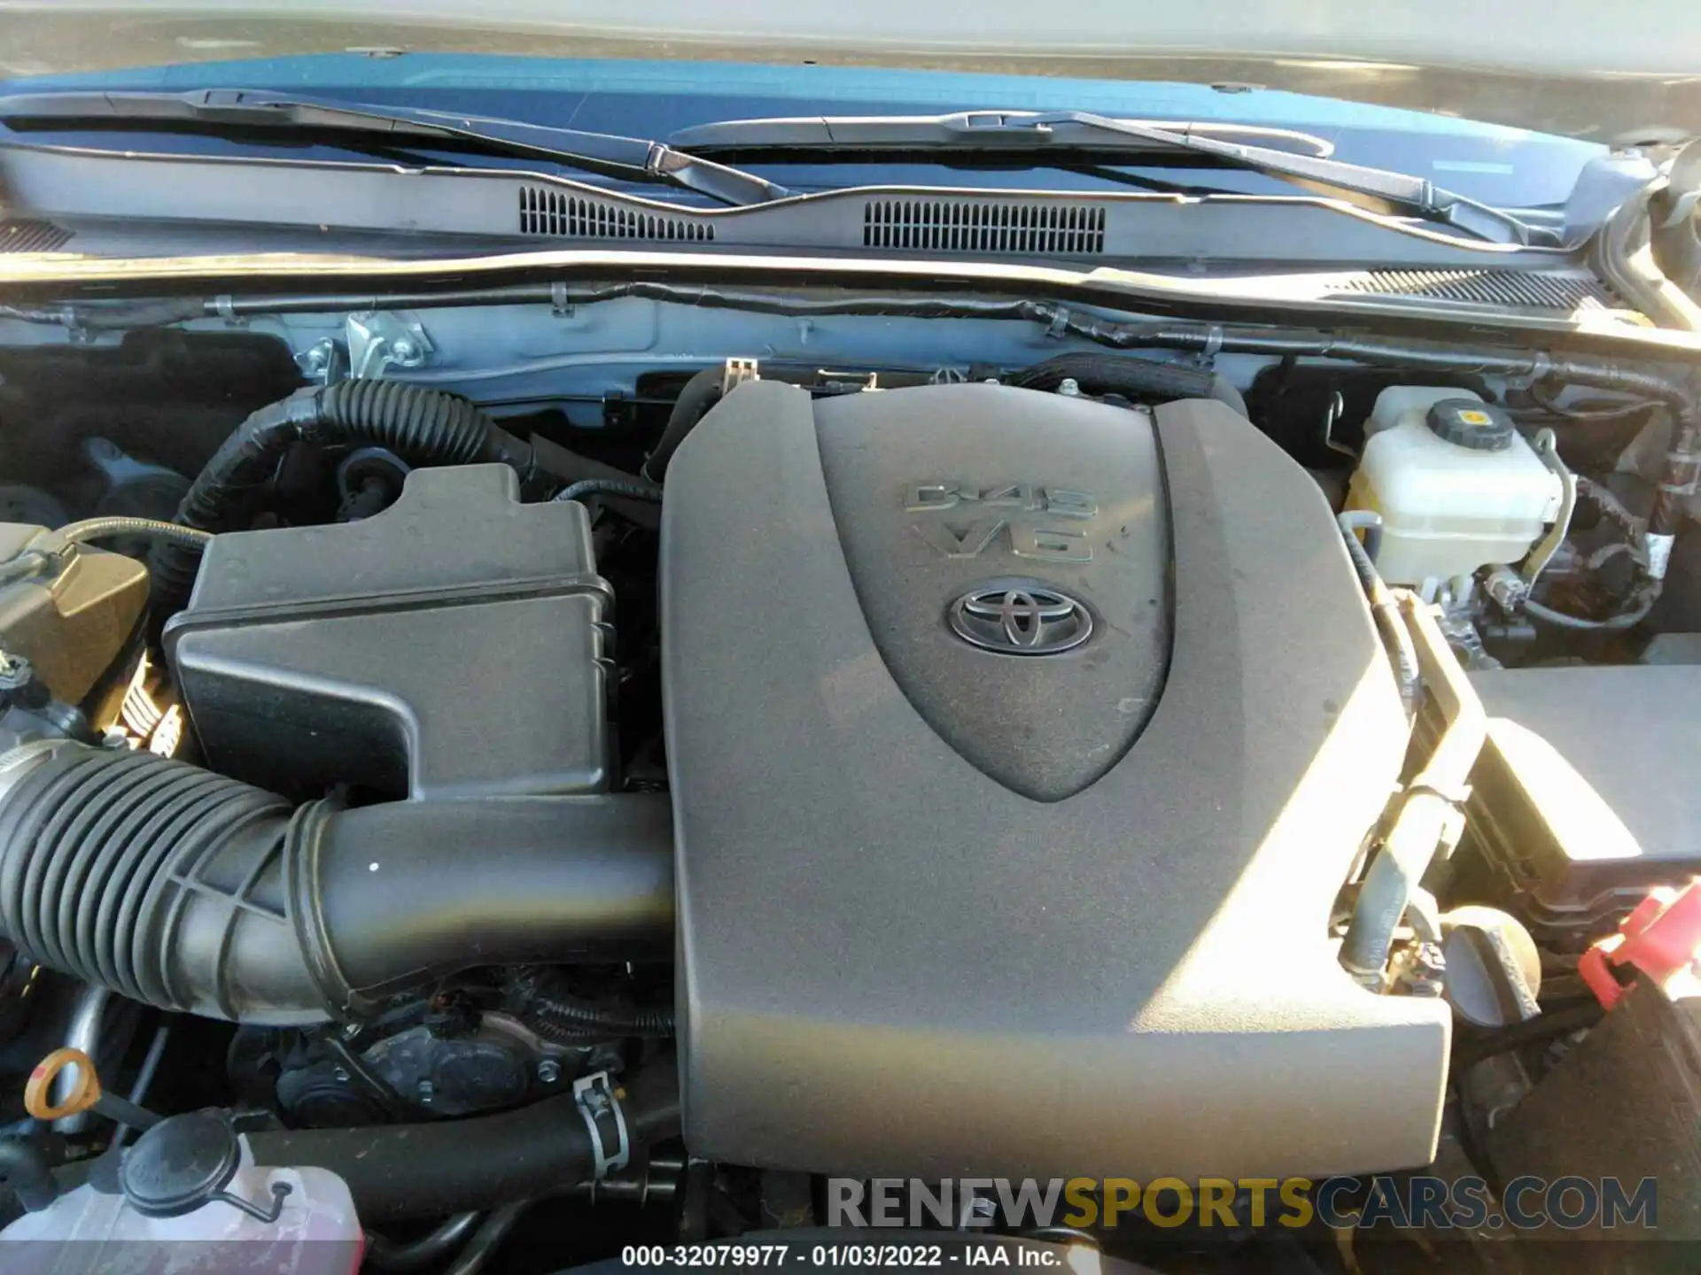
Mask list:
[[[1082,257],[1104,252],[1104,221],[1095,204],[878,199],[862,209],[862,246]]]

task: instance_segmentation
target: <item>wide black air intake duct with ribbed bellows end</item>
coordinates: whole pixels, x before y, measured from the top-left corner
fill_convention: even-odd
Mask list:
[[[163,1010],[361,1015],[469,966],[667,959],[667,797],[291,809],[148,753],[0,758],[0,930]]]

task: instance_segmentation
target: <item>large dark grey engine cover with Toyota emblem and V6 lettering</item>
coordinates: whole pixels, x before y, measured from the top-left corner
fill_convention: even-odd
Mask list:
[[[662,605],[694,1154],[1429,1161],[1446,1010],[1328,938],[1405,719],[1243,418],[747,384],[668,468]]]

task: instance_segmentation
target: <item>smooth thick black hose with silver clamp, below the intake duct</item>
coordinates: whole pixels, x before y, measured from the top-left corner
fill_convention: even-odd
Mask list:
[[[677,1137],[674,1068],[640,1071],[621,1108],[634,1149]],[[247,1134],[247,1141],[257,1164],[315,1166],[340,1176],[367,1224],[500,1209],[573,1187],[595,1164],[585,1115],[570,1093],[468,1120],[289,1129]]]

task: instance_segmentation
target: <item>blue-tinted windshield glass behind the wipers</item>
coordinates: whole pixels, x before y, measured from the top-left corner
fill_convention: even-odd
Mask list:
[[[1257,124],[1298,129],[1327,141],[1334,158],[1397,170],[1466,199],[1497,207],[1562,206],[1579,173],[1604,146],[1527,129],[1482,124],[1442,114],[1402,110],[1249,85],[1199,85],[866,70],[663,61],[558,61],[476,54],[344,53],[253,61],[182,63],[83,75],[17,76],[5,92],[60,88],[284,90],[384,107],[503,117],[595,133],[665,139],[682,129],[774,116],[941,116],[964,110],[1084,110],[1121,119]],[[54,139],[77,139],[58,126]],[[276,150],[279,139],[206,131],[174,148],[209,153]],[[413,148],[418,153],[418,148]],[[298,158],[340,158],[335,144],[291,141]],[[738,167],[799,192],[862,184],[1034,187],[1055,190],[1157,189],[1192,184],[1170,165],[1143,163],[1060,168],[1024,160],[1009,165],[958,158],[888,155],[767,158],[738,153]],[[1213,170],[1211,190],[1272,192],[1281,182],[1255,172]],[[621,185],[616,178],[614,185]],[[1289,187],[1291,189],[1291,187]]]

